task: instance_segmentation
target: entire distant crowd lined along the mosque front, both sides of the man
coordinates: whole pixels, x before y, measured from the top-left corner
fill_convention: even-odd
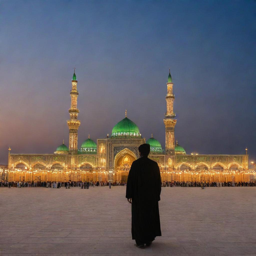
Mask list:
[[[179,181],[164,181],[161,183],[162,187],[255,187],[256,182],[179,182]],[[71,187],[80,187],[82,189],[89,189],[89,187],[104,187],[104,186],[126,186],[126,183],[122,182],[102,182],[102,181],[65,181],[65,182],[41,182],[41,181],[18,181],[18,182],[7,182],[2,181],[0,182],[0,187],[16,187],[16,188],[23,188],[23,187],[45,187],[45,188],[71,188]]]

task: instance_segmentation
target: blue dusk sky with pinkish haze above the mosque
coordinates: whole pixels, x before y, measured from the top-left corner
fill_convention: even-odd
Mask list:
[[[68,146],[73,68],[78,145],[125,117],[165,147],[168,67],[175,140],[188,154],[256,160],[255,1],[1,1],[0,164]]]

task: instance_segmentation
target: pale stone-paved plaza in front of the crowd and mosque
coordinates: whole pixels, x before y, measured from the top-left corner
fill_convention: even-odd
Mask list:
[[[131,239],[125,187],[0,188],[0,255],[256,255],[256,187],[162,188],[162,237]]]

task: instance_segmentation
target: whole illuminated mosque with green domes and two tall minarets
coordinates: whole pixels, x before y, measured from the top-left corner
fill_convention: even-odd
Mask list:
[[[74,70],[75,71],[75,70]],[[74,72],[70,90],[71,106],[69,144],[63,143],[53,154],[8,155],[9,181],[108,181],[125,183],[132,162],[139,157],[138,146],[150,144],[149,158],[160,168],[162,181],[249,181],[248,155],[188,155],[175,142],[174,128],[177,122],[173,109],[175,95],[169,70],[167,80],[165,125],[165,148],[153,137],[146,140],[139,127],[127,117],[118,122],[112,133],[94,142],[90,135],[78,147],[77,77]],[[247,149],[246,149],[247,150]]]

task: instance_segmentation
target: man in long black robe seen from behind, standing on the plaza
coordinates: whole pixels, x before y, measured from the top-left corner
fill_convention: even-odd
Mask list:
[[[150,145],[139,146],[140,158],[132,163],[126,185],[126,198],[132,204],[132,239],[136,246],[150,246],[161,236],[158,201],[161,175],[158,164],[148,158]]]

